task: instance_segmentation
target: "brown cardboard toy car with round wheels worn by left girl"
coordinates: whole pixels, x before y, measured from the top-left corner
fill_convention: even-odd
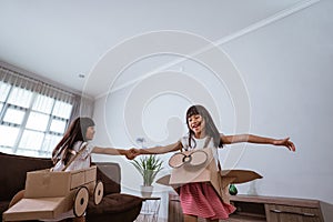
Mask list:
[[[95,178],[97,167],[68,172],[49,169],[28,172],[23,199],[3,213],[3,221],[50,220],[72,209],[75,216],[81,216],[90,196],[95,204],[103,198],[103,183]]]

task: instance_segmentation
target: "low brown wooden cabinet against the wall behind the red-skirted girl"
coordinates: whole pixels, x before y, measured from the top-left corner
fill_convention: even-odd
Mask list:
[[[233,195],[236,211],[229,222],[331,222],[333,206],[316,200]],[[182,222],[182,210],[176,193],[169,194],[169,222]],[[200,220],[199,220],[200,221]]]

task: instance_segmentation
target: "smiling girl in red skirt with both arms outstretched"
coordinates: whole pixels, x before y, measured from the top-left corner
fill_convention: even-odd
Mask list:
[[[218,131],[213,119],[202,105],[192,105],[186,111],[188,135],[178,142],[165,147],[148,149],[131,149],[132,155],[161,154],[173,151],[203,149],[204,147],[215,148],[213,155],[218,161],[218,148],[223,144],[240,142],[262,143],[282,145],[290,151],[295,151],[295,145],[285,139],[272,139],[253,134],[224,135]],[[218,222],[220,219],[228,219],[235,208],[224,203],[210,183],[196,182],[183,184],[180,188],[180,202],[183,210],[184,222],[196,222],[198,218],[204,218],[210,222]]]

